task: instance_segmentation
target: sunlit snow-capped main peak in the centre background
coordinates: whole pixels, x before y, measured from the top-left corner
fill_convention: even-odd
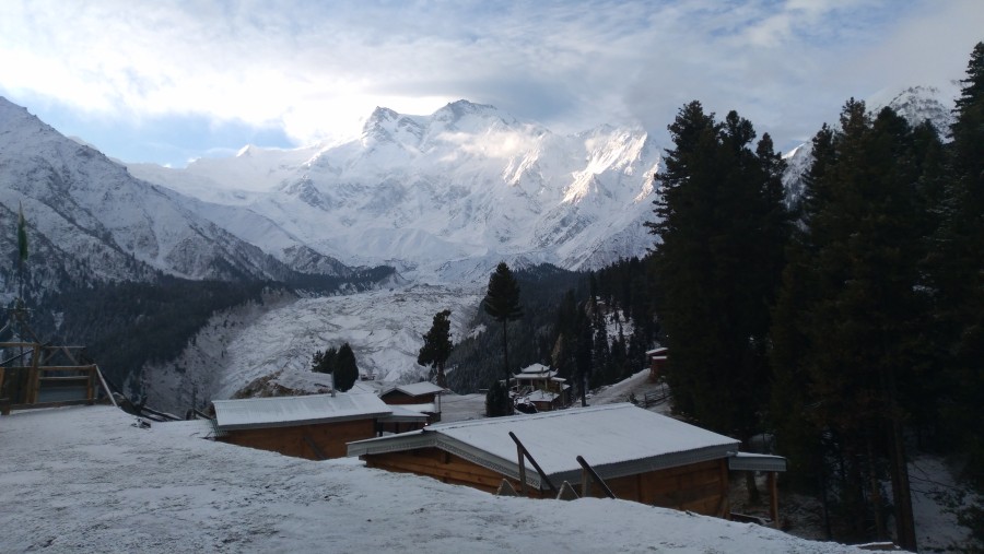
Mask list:
[[[283,261],[285,241],[229,210],[350,266],[454,281],[503,258],[577,269],[643,254],[658,161],[641,129],[561,137],[459,101],[430,116],[377,108],[342,144],[249,146],[185,169],[130,170],[199,197],[191,209]]]

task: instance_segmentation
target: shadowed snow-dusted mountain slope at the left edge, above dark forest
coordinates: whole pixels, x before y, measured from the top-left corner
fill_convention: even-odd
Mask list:
[[[147,268],[191,279],[288,273],[175,197],[0,98],[0,203],[23,205],[33,234],[91,279],[142,279]]]

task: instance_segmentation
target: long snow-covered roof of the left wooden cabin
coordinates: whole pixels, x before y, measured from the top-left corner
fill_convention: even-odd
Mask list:
[[[375,394],[311,394],[306,397],[214,400],[220,431],[288,427],[291,425],[361,420],[393,413]]]

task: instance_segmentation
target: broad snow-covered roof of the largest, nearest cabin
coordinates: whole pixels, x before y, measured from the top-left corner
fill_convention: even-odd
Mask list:
[[[349,443],[349,456],[436,447],[514,479],[516,434],[551,481],[577,483],[584,457],[605,479],[726,458],[733,438],[630,403],[432,425],[425,429]],[[536,471],[527,482],[541,486]]]

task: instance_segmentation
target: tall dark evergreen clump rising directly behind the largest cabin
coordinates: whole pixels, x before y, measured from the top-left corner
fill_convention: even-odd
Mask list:
[[[670,351],[675,409],[748,439],[768,399],[770,307],[789,232],[783,162],[735,111],[717,122],[699,102],[669,126],[658,175],[654,267]]]

